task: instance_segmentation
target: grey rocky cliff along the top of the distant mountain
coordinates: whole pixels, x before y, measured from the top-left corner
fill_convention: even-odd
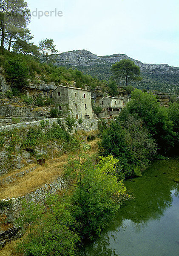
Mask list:
[[[78,50],[71,52],[63,52],[56,55],[56,65],[73,65],[73,66],[91,66],[94,64],[114,64],[122,59],[131,59],[140,67],[141,71],[149,72],[157,70],[158,72],[165,73],[179,73],[179,67],[170,67],[168,64],[145,64],[141,61],[134,60],[125,54],[114,54],[106,56],[97,56],[86,50]]]

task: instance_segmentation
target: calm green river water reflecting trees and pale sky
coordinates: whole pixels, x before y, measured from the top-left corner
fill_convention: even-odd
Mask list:
[[[155,161],[127,180],[127,201],[83,256],[179,256],[179,159]]]

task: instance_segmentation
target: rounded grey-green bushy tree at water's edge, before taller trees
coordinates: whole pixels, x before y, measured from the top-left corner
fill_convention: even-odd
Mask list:
[[[122,169],[118,175],[122,178],[141,175],[156,154],[156,144],[148,130],[142,127],[141,119],[128,116],[125,122],[117,119],[102,135],[102,154],[111,154],[119,159]]]

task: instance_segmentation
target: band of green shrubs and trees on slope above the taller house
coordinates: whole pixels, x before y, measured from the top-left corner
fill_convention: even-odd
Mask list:
[[[28,86],[29,80],[34,84],[39,84],[39,79],[45,83],[55,82],[56,85],[76,85],[84,88],[88,85],[90,90],[94,90],[97,86],[101,87],[103,92],[107,92],[109,96],[117,94],[117,87],[113,81],[99,81],[90,75],[85,75],[77,68],[56,67],[52,64],[40,63],[36,58],[30,55],[23,55],[4,51],[0,55],[0,67],[5,69],[7,81],[11,82],[14,89],[21,90],[24,86]],[[14,93],[16,94],[17,91]],[[17,96],[17,95],[14,95]]]

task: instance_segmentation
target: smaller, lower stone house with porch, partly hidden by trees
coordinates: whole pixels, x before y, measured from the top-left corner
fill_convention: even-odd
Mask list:
[[[103,108],[103,112],[99,113],[99,118],[112,118],[117,116],[124,108],[123,99],[105,96],[99,100],[99,107]]]

